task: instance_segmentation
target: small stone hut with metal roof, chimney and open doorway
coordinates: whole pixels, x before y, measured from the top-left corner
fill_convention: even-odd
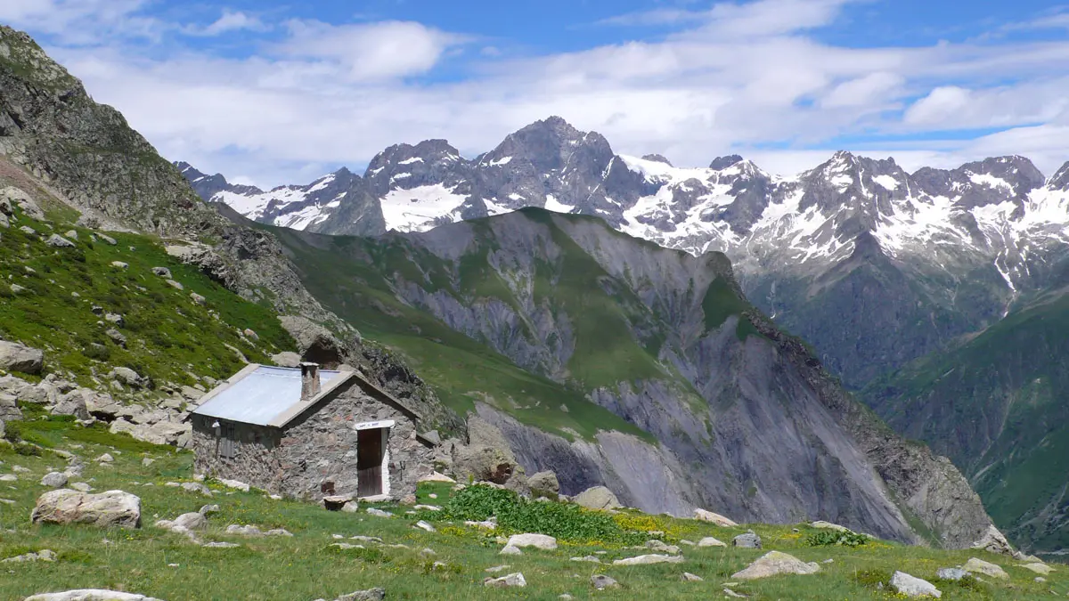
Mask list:
[[[419,415],[356,371],[249,365],[189,418],[198,473],[289,497],[402,498],[432,471]]]

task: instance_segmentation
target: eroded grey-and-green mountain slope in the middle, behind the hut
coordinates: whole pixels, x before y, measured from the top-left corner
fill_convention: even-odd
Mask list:
[[[531,427],[603,449],[599,430],[639,434],[611,454],[645,469],[591,462],[558,473],[564,492],[619,478],[650,511],[821,518],[949,546],[987,525],[948,462],[895,436],[749,306],[724,255],[534,209],[422,234],[278,235],[328,307],[455,409],[505,426],[528,471],[559,469],[564,452]],[[642,494],[651,473],[662,489]]]

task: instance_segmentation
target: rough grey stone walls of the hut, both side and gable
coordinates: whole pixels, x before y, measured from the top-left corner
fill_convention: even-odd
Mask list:
[[[416,492],[420,476],[432,471],[432,450],[416,438],[416,423],[404,412],[367,394],[352,381],[329,400],[297,417],[284,429],[235,423],[233,458],[220,457],[215,418],[191,416],[195,469],[229,478],[284,496],[319,500],[322,484],[334,482],[335,494],[357,493],[357,431],[363,421],[392,419],[387,437],[389,495]],[[223,421],[223,420],[220,420]]]

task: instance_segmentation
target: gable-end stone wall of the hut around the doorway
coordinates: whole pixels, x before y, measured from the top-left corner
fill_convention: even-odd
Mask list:
[[[378,401],[355,383],[316,411],[289,425],[276,456],[282,471],[282,494],[300,498],[322,496],[323,482],[334,482],[335,494],[357,492],[357,431],[362,421],[392,419],[387,437],[390,496],[416,492],[417,479],[432,469],[432,451],[416,440],[416,423],[402,411]]]

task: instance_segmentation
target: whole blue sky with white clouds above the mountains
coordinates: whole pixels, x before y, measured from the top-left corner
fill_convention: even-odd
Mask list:
[[[168,158],[261,186],[432,137],[474,156],[549,114],[684,166],[1069,159],[1069,6],[1037,0],[4,0],[0,22]]]

